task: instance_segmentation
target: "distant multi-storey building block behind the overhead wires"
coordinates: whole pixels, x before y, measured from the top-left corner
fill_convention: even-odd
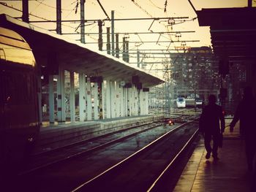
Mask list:
[[[220,88],[219,66],[211,47],[191,47],[183,53],[170,53],[173,96],[197,94],[206,99]]]

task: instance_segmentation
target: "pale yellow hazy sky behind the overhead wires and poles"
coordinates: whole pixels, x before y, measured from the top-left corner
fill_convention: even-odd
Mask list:
[[[104,7],[105,11],[108,13],[109,17],[111,16],[111,10],[115,12],[115,18],[150,18],[149,15],[155,18],[160,17],[189,17],[184,23],[176,24],[173,27],[167,26],[167,20],[154,21],[151,26],[152,20],[127,20],[127,21],[116,21],[115,22],[115,32],[148,32],[148,28],[151,26],[152,31],[196,31],[195,33],[182,34],[179,38],[180,41],[185,40],[200,40],[200,42],[187,42],[187,46],[198,47],[198,46],[210,46],[211,37],[209,34],[208,27],[199,27],[198,21],[192,20],[196,18],[196,14],[187,0],[167,0],[166,12],[164,12],[166,0],[135,0],[140,7],[135,5],[132,0],[101,0],[101,4]],[[247,0],[191,0],[194,4],[195,9],[200,10],[202,8],[219,8],[219,7],[246,7]],[[8,5],[15,7],[16,9],[22,9],[21,1],[1,1],[7,3]],[[61,18],[62,20],[74,20],[80,19],[80,6],[78,6],[78,11],[75,13],[76,4],[78,0],[62,0],[61,1]],[[252,2],[252,5],[255,6],[255,1]],[[105,19],[106,16],[102,9],[99,7],[99,4],[96,0],[86,0],[86,19]],[[143,11],[146,10],[148,14]],[[20,17],[21,12],[15,11],[4,7],[0,4],[0,13],[6,13],[13,17]],[[56,1],[55,0],[31,0],[29,1],[29,13],[37,15],[39,17],[56,20]],[[33,16],[29,16],[30,20],[39,20]],[[178,23],[178,21],[176,21]],[[56,29],[56,24],[54,23],[33,23],[36,26],[47,29]],[[97,23],[86,23],[86,32],[98,32]],[[75,32],[75,28],[78,28],[79,23],[63,23],[62,33]],[[105,26],[103,26],[103,32],[106,32],[106,27],[110,26],[110,22],[106,21]],[[78,28],[80,31],[80,28]],[[69,35],[71,39],[80,39],[79,35]],[[104,40],[105,35],[103,36]],[[86,36],[86,42],[97,42],[97,35]],[[119,37],[121,41],[122,35]],[[169,46],[169,42],[160,43],[146,43],[146,41],[168,41],[170,39],[178,40],[175,37],[175,34],[168,36],[167,34],[129,34],[129,41],[138,41],[142,40],[143,43],[138,47],[138,49],[164,49],[166,50]],[[96,47],[97,44],[89,44],[90,47]],[[181,46],[181,42],[176,42],[170,45],[170,49],[174,46]],[[120,44],[121,47],[121,44]],[[105,49],[105,45],[104,48]],[[129,44],[129,49],[136,50],[137,47],[135,43]]]

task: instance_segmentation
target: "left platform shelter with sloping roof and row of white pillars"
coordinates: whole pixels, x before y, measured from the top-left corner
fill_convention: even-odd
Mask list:
[[[2,27],[20,34],[34,53],[41,122],[45,99],[42,98],[42,82],[48,84],[46,99],[50,123],[54,123],[56,118],[58,123],[66,122],[67,95],[71,122],[148,115],[149,88],[164,82],[160,77],[132,67],[119,58],[91,50],[82,43],[8,15],[0,15],[0,23]],[[65,77],[65,74],[68,75]],[[77,78],[74,74],[78,74]],[[79,86],[78,109],[75,109],[75,79],[78,79]],[[69,82],[69,93],[65,91],[65,81]]]

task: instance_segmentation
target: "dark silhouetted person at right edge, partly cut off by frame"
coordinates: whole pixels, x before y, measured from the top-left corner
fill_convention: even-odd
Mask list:
[[[240,134],[245,139],[246,159],[249,171],[253,169],[253,159],[256,153],[256,100],[252,94],[252,88],[244,88],[244,97],[238,104],[236,113],[230,123],[230,131],[233,131],[236,122],[240,120]]]

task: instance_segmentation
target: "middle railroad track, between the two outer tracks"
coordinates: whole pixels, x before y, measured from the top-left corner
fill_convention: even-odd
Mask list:
[[[162,137],[176,126],[158,125],[155,128],[148,128],[147,131],[133,133],[129,137],[94,148],[90,152],[73,157],[68,156],[64,161],[57,161],[48,166],[41,166],[39,169],[23,172],[17,177],[12,177],[12,180],[5,184],[10,188],[18,186],[18,190],[21,191],[71,191],[85,180],[89,181],[97,177],[132,153],[137,153],[138,150]],[[83,150],[85,149],[83,148]],[[62,153],[65,152],[62,151]]]

